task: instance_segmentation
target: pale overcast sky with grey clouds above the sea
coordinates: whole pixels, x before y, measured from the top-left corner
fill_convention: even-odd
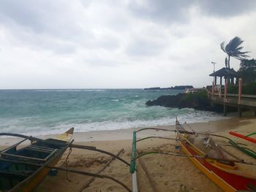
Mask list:
[[[221,42],[241,37],[256,58],[255,10],[255,0],[0,0],[0,89],[211,85]]]

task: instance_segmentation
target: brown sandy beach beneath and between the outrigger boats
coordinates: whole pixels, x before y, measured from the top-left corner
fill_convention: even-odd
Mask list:
[[[184,123],[184,122],[181,122]],[[211,132],[221,134],[230,139],[235,140],[252,150],[256,150],[256,146],[238,137],[233,137],[228,134],[228,131],[238,131],[241,134],[249,134],[255,131],[256,119],[254,118],[230,118],[226,120],[210,121],[208,123],[189,123],[189,127],[198,132]],[[161,126],[157,128],[174,129],[174,126]],[[187,127],[188,128],[188,127]],[[73,139],[76,144],[90,145],[98,149],[108,150],[111,153],[117,154],[121,149],[124,149],[120,157],[126,161],[130,161],[132,149],[132,129],[116,130],[116,131],[93,131],[87,133],[75,133]],[[142,131],[138,133],[138,139],[148,136],[170,137],[176,138],[176,134],[169,131]],[[52,136],[44,136],[47,138]],[[255,136],[253,136],[255,137]],[[255,162],[255,159],[250,158],[239,152],[233,147],[227,145],[227,141],[216,139],[219,145],[225,149],[238,155],[240,158]],[[14,138],[1,138],[1,148],[17,142]],[[167,139],[146,139],[138,142],[137,148],[139,153],[146,151],[162,151],[182,153],[176,148],[176,141]],[[67,158],[66,153],[59,161],[58,166],[61,166]],[[105,164],[110,161],[111,157],[102,153],[93,152],[90,150],[72,149],[72,153],[68,158],[69,169],[76,169],[86,172],[99,172]],[[195,167],[189,158],[176,157],[172,155],[146,155],[137,161],[138,165],[138,187],[140,191],[179,191],[181,185],[187,188],[187,191],[222,191],[217,185],[208,179],[199,169]],[[63,167],[66,167],[63,165]],[[113,160],[112,163],[101,174],[109,175],[120,180],[122,183],[132,188],[132,177],[129,174],[129,166],[121,163],[118,160]],[[121,185],[114,183],[111,180],[96,178],[89,186],[91,177],[80,174],[72,174],[59,171],[56,176],[48,176],[38,186],[36,191],[126,191]],[[151,182],[150,182],[151,181]]]

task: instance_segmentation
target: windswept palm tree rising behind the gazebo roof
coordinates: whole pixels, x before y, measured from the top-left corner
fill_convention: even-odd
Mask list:
[[[227,45],[225,45],[225,42],[220,44],[222,50],[227,53],[227,57],[225,58],[225,66],[227,68],[230,69],[230,57],[237,58],[239,60],[249,57],[246,55],[246,53],[250,53],[249,51],[241,51],[244,48],[240,46],[243,42],[244,41],[240,37],[234,37]]]

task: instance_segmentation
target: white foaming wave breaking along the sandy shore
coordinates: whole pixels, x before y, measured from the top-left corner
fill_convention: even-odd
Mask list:
[[[213,112],[194,112],[191,114],[177,114],[180,122],[187,123],[199,123],[208,122],[210,120],[224,119],[221,115],[216,115]],[[102,122],[91,122],[91,123],[59,123],[56,126],[47,128],[41,126],[35,127],[12,127],[12,132],[18,132],[20,134],[27,134],[31,136],[47,135],[47,134],[61,134],[67,131],[69,128],[74,127],[75,132],[89,132],[89,131],[110,131],[126,128],[146,128],[152,126],[170,126],[175,125],[175,115],[170,117],[164,117],[153,120],[105,120]],[[8,128],[10,130],[10,128]],[[26,131],[24,131],[26,130]],[[0,129],[2,132],[2,130]],[[4,131],[7,131],[5,129]]]

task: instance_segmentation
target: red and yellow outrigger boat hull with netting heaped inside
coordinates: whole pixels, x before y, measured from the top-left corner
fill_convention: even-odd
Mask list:
[[[181,142],[181,150],[222,190],[255,191],[255,165],[230,160],[225,150],[209,135],[186,131],[178,120],[176,131]]]

